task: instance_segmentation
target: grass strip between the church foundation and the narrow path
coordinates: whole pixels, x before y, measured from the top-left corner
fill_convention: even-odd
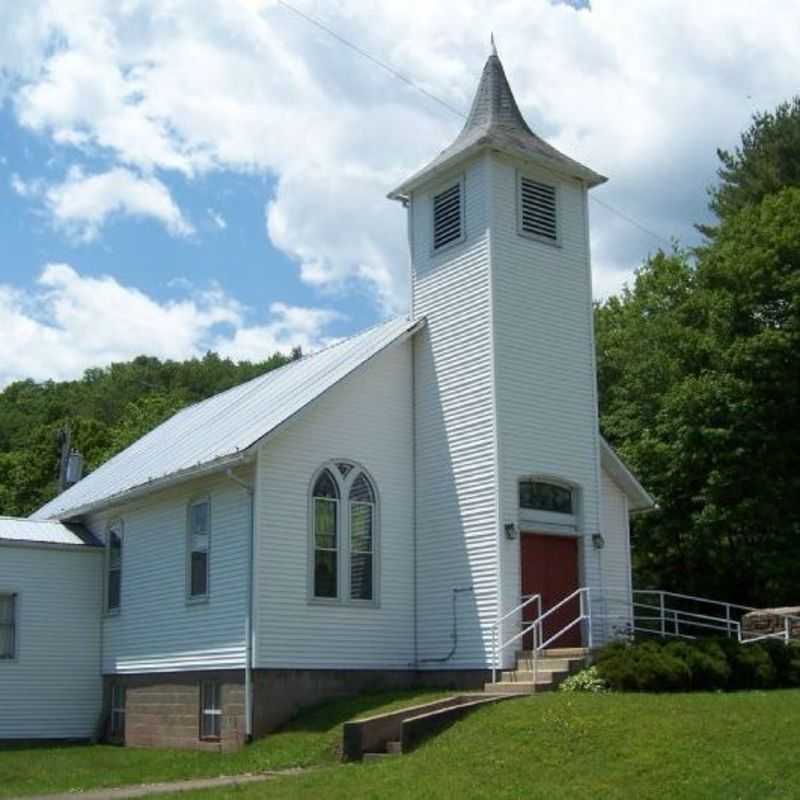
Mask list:
[[[442,692],[394,692],[336,700],[238,753],[110,745],[0,746],[0,798],[334,764],[347,720],[441,696]]]

